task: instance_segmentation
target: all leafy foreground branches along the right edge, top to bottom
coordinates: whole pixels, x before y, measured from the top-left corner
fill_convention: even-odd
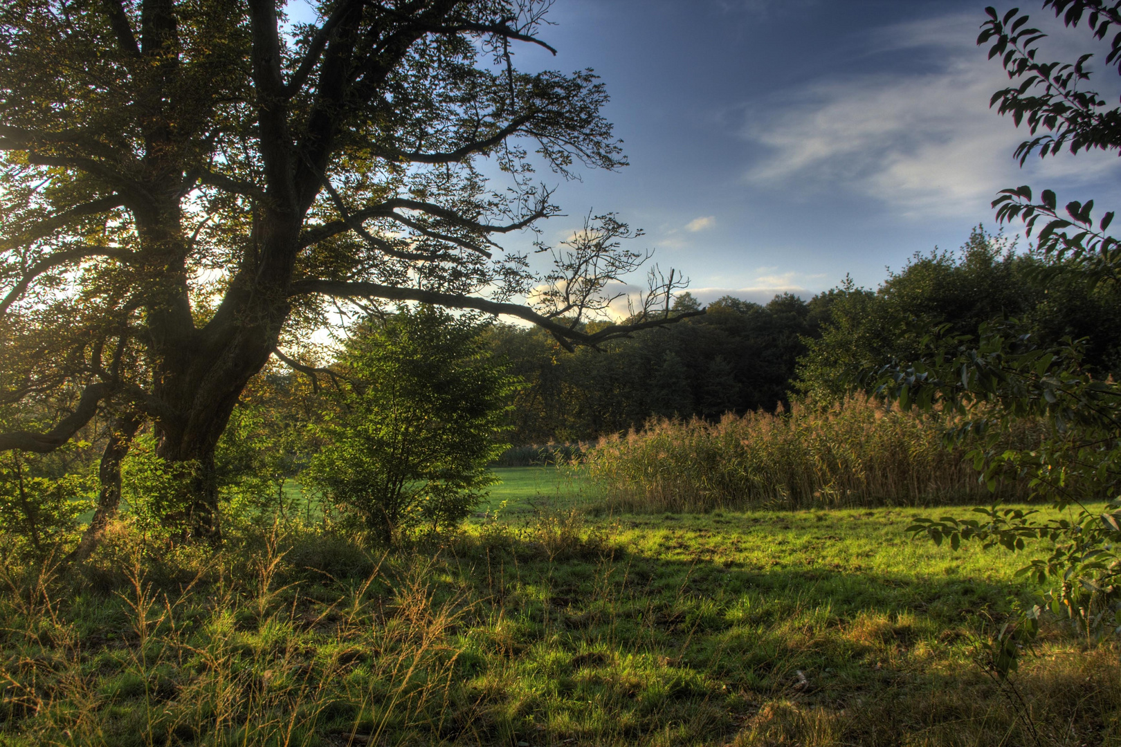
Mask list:
[[[1085,21],[1095,39],[1121,28],[1121,3],[1044,0],[1043,8],[1071,28]],[[995,92],[990,105],[999,103],[998,111],[1011,114],[1017,125],[1026,122],[1031,136],[1016,150],[1020,164],[1032,152],[1045,158],[1063,149],[1121,150],[1121,108],[1109,109],[1097,93],[1080,87],[1091,78],[1086,64],[1093,54],[1073,64],[1040,62],[1038,43],[1046,35],[1028,25],[1027,15],[1017,8],[1003,16],[991,7],[985,12],[978,44],[990,45],[989,58],[1000,57],[1013,82]],[[1113,36],[1105,62],[1121,62],[1121,34]],[[1031,188],[1021,186],[1002,190],[992,206],[1000,222],[1022,220],[1029,236],[1041,223],[1038,250],[1051,260],[1045,282],[1066,273],[1092,284],[1121,278],[1121,242],[1105,233],[1113,213],[1095,224],[1092,199],[1067,203],[1063,215],[1053,190],[1034,202]],[[978,510],[984,519],[916,521],[910,531],[939,544],[948,540],[955,549],[978,541],[1022,551],[1028,540],[1048,540],[1050,555],[1032,559],[1021,573],[1049,580],[1049,607],[1087,637],[1121,632],[1121,387],[1086,371],[1078,342],[1040,347],[1015,320],[983,325],[975,338],[944,332],[924,340],[919,362],[892,363],[864,383],[902,408],[957,414],[961,423],[947,438],[978,438],[972,456],[990,488],[1001,474],[1018,473],[1030,477],[1039,497],[1077,510],[1069,519],[1040,521],[1035,512],[993,505]],[[1037,420],[1043,437],[1027,448],[998,450],[994,433],[1013,419]],[[1099,503],[1104,510],[1090,507]],[[998,634],[991,665],[1001,676],[1016,667],[1020,645],[1038,632],[1038,614],[1035,607],[1022,610]]]

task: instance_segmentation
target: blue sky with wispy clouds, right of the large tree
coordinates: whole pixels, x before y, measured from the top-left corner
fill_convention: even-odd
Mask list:
[[[1031,13],[1051,34],[1043,57],[1104,59],[1085,30]],[[703,301],[808,298],[846,273],[876,287],[915,252],[995,228],[1009,186],[1121,205],[1117,156],[1013,160],[1027,133],[989,109],[1008,80],[974,44],[983,1],[556,0],[548,18],[558,55],[524,45],[518,66],[594,68],[631,166],[559,183],[568,217],[544,239],[615,212]],[[1121,91],[1108,69],[1093,85]]]

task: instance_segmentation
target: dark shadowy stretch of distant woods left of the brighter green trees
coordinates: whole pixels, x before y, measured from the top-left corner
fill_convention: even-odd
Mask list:
[[[488,333],[493,348],[526,382],[511,440],[594,440],[651,417],[773,411],[788,402],[796,361],[805,339],[817,335],[830,298],[781,295],[759,305],[724,297],[704,316],[571,355],[543,330],[497,327]],[[685,293],[675,308],[701,305]]]

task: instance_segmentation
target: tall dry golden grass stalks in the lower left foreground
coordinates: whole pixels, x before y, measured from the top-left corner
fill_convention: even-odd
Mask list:
[[[432,558],[297,533],[152,559],[135,540],[111,536],[85,580],[0,562],[0,744],[311,747],[438,730],[448,633],[471,605],[437,594]]]

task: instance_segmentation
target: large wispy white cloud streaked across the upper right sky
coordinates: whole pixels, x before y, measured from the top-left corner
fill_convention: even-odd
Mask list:
[[[873,53],[934,52],[932,72],[867,74],[816,81],[769,115],[751,120],[745,137],[769,151],[747,178],[787,183],[803,194],[845,190],[878,198],[909,216],[974,213],[1004,187],[1037,181],[1085,183],[1115,175],[1117,156],[1082,153],[1012,159],[1027,137],[989,109],[1008,78],[973,46],[974,16],[947,16],[879,29]],[[1065,38],[1056,43],[1066,52]],[[925,50],[925,52],[924,52]]]

